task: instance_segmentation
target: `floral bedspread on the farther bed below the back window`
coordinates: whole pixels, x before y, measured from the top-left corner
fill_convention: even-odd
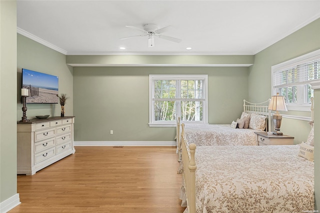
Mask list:
[[[200,145],[256,145],[254,129],[232,128],[230,124],[185,125],[184,138]]]

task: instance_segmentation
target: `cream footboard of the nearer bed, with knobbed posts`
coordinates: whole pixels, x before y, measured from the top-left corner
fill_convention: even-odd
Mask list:
[[[195,149],[194,143],[188,144],[184,139],[184,123],[181,124],[181,148],[182,148],[182,164],[183,164],[183,181],[186,193],[186,203],[188,213],[195,213]]]

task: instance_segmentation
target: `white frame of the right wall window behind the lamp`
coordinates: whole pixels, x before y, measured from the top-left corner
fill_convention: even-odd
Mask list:
[[[275,95],[278,92],[278,88],[274,86],[274,73],[279,70],[284,70],[286,68],[293,67],[295,65],[306,63],[310,60],[319,59],[320,58],[320,49],[309,52],[307,54],[301,55],[299,57],[284,61],[282,63],[271,66],[271,95]],[[299,74],[299,73],[298,73]],[[318,79],[315,79],[318,80]],[[294,83],[294,86],[297,87],[297,102],[296,103],[286,103],[288,110],[294,111],[310,111],[310,103],[305,103],[305,87],[304,84],[308,84],[315,80],[304,81],[300,83]],[[288,85],[290,86],[290,85]],[[285,86],[284,86],[285,87]]]

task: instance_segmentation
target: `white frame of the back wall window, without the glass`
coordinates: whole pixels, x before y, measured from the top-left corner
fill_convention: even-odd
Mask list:
[[[176,126],[176,121],[155,121],[152,101],[153,80],[203,80],[205,101],[202,104],[202,121],[183,121],[187,123],[207,124],[208,122],[208,75],[207,74],[150,74],[149,75],[149,126]],[[178,91],[179,92],[179,91]],[[177,117],[180,116],[180,105],[176,106]]]

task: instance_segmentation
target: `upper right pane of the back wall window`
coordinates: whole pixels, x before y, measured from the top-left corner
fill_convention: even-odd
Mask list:
[[[202,80],[181,80],[181,98],[202,98]]]

